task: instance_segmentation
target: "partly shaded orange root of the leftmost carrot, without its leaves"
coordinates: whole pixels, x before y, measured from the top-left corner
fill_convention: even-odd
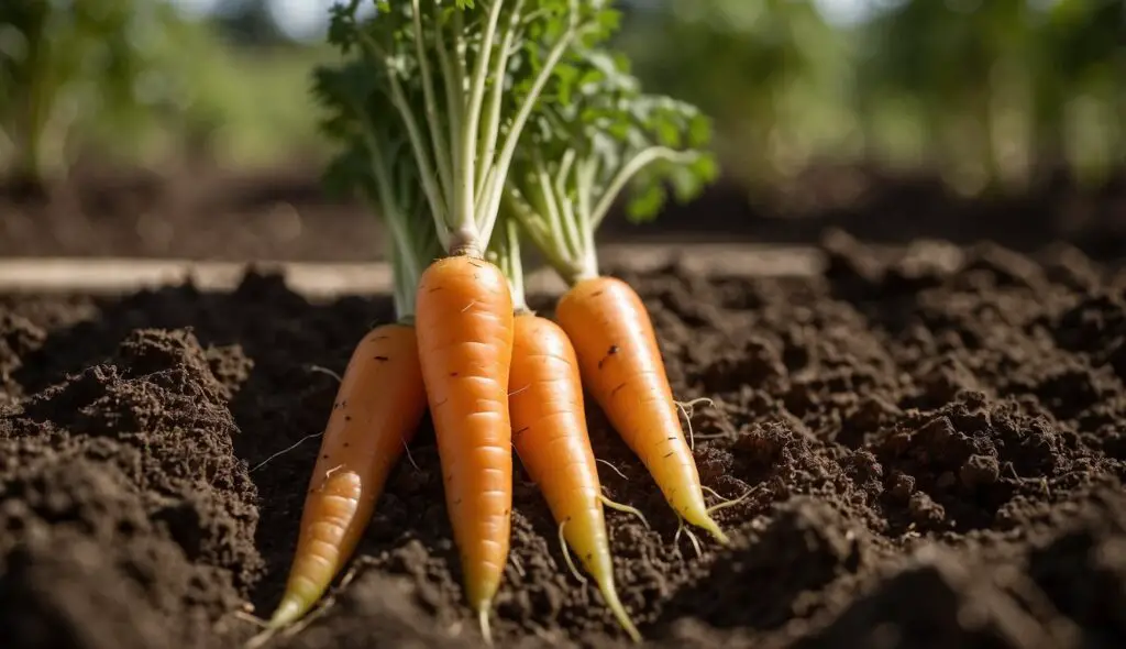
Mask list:
[[[271,625],[297,620],[328,589],[356,549],[387,475],[425,414],[414,329],[399,323],[376,327],[356,346],[341,376]]]

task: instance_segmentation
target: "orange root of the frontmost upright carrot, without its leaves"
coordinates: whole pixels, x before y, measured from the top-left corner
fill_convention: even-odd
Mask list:
[[[481,616],[500,587],[511,532],[512,324],[510,287],[493,264],[446,257],[422,274],[414,315],[422,379],[465,593]]]

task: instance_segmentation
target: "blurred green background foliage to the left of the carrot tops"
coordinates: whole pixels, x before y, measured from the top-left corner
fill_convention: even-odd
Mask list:
[[[80,152],[236,167],[320,153],[307,72],[328,48],[220,34],[167,1],[0,1],[0,176],[56,185]]]

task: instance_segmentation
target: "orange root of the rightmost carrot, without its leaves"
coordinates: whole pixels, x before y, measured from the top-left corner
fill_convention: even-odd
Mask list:
[[[583,385],[669,505],[726,543],[707,512],[656,335],[637,293],[616,277],[580,279],[560,297],[555,319],[574,345]]]

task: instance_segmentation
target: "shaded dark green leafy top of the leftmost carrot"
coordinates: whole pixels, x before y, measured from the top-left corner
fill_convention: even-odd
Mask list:
[[[392,119],[376,117],[388,109],[375,81],[358,60],[314,70],[313,94],[329,112],[322,131],[340,145],[324,180],[331,194],[358,195],[382,216],[391,234],[387,254],[395,313],[409,322],[414,317],[419,278],[440,249],[434,222],[423,214],[427,204],[419,189],[419,169],[402,130]]]

